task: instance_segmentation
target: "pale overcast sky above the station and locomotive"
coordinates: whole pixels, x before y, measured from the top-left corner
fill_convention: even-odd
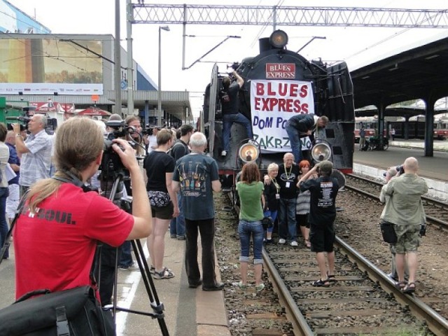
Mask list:
[[[53,34],[113,34],[115,32],[114,0],[8,0],[25,13],[34,16]],[[137,0],[134,0],[137,2]],[[262,6],[359,6],[354,0],[244,0],[225,1],[226,4]],[[146,1],[164,4],[223,4],[223,1]],[[126,49],[125,1],[121,0],[121,39]],[[364,0],[363,7],[381,8],[447,8],[445,0],[403,1]],[[448,36],[442,29],[386,29],[360,27],[277,27],[289,36],[287,48],[299,50],[311,36],[325,36],[314,40],[301,54],[307,59],[321,57],[324,61],[345,60],[349,69],[367,64],[383,55],[390,55],[396,48],[416,43],[416,41]],[[158,82],[158,25],[133,25],[134,59],[143,67],[155,83]],[[187,38],[186,66],[204,55],[225,36],[237,35],[211,52],[203,61],[191,69],[183,71],[182,66],[182,25],[170,25],[170,31],[162,31],[162,90],[188,90],[193,114],[199,115],[202,106],[202,92],[211,74],[213,62],[240,62],[241,59],[258,54],[257,36],[267,37],[271,27],[241,25],[188,25],[186,34],[197,37]],[[225,63],[220,64],[224,72]]]

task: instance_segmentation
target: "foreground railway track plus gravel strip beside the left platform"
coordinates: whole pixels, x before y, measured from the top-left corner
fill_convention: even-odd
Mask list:
[[[300,242],[299,248],[265,246],[265,290],[239,290],[237,216],[221,214],[224,220],[218,216],[217,221],[225,226],[225,239],[218,254],[223,280],[230,285],[225,301],[231,330],[237,325],[232,335],[415,335],[416,330],[419,335],[448,335],[444,318],[414,295],[396,290],[384,272],[339,238],[335,285],[311,286],[318,279],[316,255]],[[241,328],[243,332],[237,331]]]

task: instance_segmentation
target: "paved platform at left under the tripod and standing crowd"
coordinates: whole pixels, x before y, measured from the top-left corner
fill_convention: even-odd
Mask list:
[[[142,239],[144,250],[145,243],[146,240]],[[153,280],[159,300],[165,306],[163,321],[119,311],[116,318],[118,336],[163,335],[159,322],[167,325],[170,336],[230,336],[223,291],[207,292],[201,286],[188,287],[184,263],[185,246],[185,240],[171,239],[167,232],[164,264],[172,269],[175,276],[172,279]],[[148,260],[148,255],[146,259]],[[14,260],[14,250],[10,248],[10,258],[3,260],[0,265],[0,309],[14,302]],[[216,274],[219,281],[221,275],[218,262]],[[118,270],[117,302],[118,307],[153,313],[139,269]]]

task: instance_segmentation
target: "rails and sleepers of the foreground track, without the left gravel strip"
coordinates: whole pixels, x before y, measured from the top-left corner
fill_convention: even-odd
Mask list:
[[[316,288],[315,253],[269,245],[269,280],[286,307],[294,335],[448,335],[448,322],[413,295],[397,290],[372,262],[337,238],[337,283]],[[424,322],[423,322],[424,321]]]

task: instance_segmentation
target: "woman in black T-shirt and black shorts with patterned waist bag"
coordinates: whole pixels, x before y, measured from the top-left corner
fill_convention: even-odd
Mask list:
[[[151,273],[154,279],[169,279],[174,276],[170,269],[163,266],[165,255],[165,234],[172,218],[179,216],[176,193],[172,190],[174,158],[167,154],[173,144],[172,131],[160,130],[157,134],[158,148],[149,153],[144,161],[148,176],[148,190],[151,210],[153,211],[153,234],[148,237],[148,251],[151,256]]]

